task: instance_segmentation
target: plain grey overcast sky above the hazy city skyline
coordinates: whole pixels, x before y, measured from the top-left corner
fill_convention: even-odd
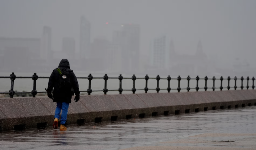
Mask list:
[[[239,56],[255,63],[255,8],[255,0],[0,0],[0,36],[41,37],[46,25],[52,27],[53,50],[61,49],[62,37],[74,37],[79,50],[84,15],[91,39],[111,40],[119,23],[140,24],[142,56],[149,55],[152,38],[166,34],[180,54],[194,54],[201,40],[218,62],[229,64]]]

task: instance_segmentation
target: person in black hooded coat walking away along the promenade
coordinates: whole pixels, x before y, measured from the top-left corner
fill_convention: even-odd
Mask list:
[[[70,69],[68,60],[62,59],[59,63],[59,67],[54,69],[51,73],[47,88],[48,97],[53,99],[53,102],[57,103],[53,123],[54,129],[58,129],[58,121],[62,110],[59,130],[67,130],[67,127],[65,126],[68,106],[71,103],[72,98],[72,88],[76,95],[74,100],[77,102],[80,99],[80,91],[75,73]],[[52,90],[53,96],[51,95]]]

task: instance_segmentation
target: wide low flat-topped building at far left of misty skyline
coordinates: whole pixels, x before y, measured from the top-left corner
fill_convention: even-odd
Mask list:
[[[40,58],[40,38],[0,37],[0,68],[18,71],[30,68]]]

